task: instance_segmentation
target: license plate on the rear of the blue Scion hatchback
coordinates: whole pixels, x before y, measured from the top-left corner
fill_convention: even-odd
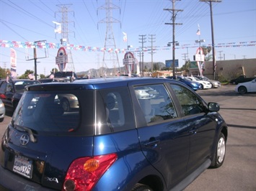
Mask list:
[[[26,157],[20,157],[16,155],[12,170],[27,178],[31,178],[32,177],[32,161],[30,161]]]

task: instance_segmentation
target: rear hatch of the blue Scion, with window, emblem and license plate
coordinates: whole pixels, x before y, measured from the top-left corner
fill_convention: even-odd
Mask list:
[[[63,97],[72,101],[69,111],[63,111]],[[71,162],[92,156],[93,106],[92,90],[25,91],[3,137],[1,166],[61,190]]]

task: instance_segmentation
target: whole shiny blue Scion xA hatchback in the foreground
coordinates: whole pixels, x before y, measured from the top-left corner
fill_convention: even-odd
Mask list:
[[[67,94],[79,107],[63,111]],[[1,140],[0,190],[182,190],[224,162],[217,111],[164,78],[31,85]]]

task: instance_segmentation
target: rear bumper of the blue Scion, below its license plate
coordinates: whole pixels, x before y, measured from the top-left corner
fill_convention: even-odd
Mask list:
[[[0,190],[17,191],[17,190],[37,190],[37,191],[53,191],[48,187],[43,187],[35,182],[31,182],[26,178],[10,172],[0,166]]]

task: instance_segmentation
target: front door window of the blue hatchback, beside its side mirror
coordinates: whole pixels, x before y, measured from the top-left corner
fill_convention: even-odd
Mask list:
[[[193,92],[180,85],[171,84],[171,87],[175,91],[177,99],[180,101],[185,116],[204,112],[203,103]]]

